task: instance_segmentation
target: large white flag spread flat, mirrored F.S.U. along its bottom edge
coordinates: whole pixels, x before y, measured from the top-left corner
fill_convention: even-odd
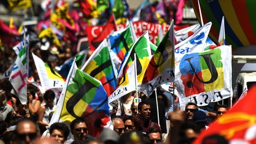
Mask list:
[[[183,56],[175,69],[181,108],[189,101],[202,106],[231,97],[231,72],[231,46]]]

